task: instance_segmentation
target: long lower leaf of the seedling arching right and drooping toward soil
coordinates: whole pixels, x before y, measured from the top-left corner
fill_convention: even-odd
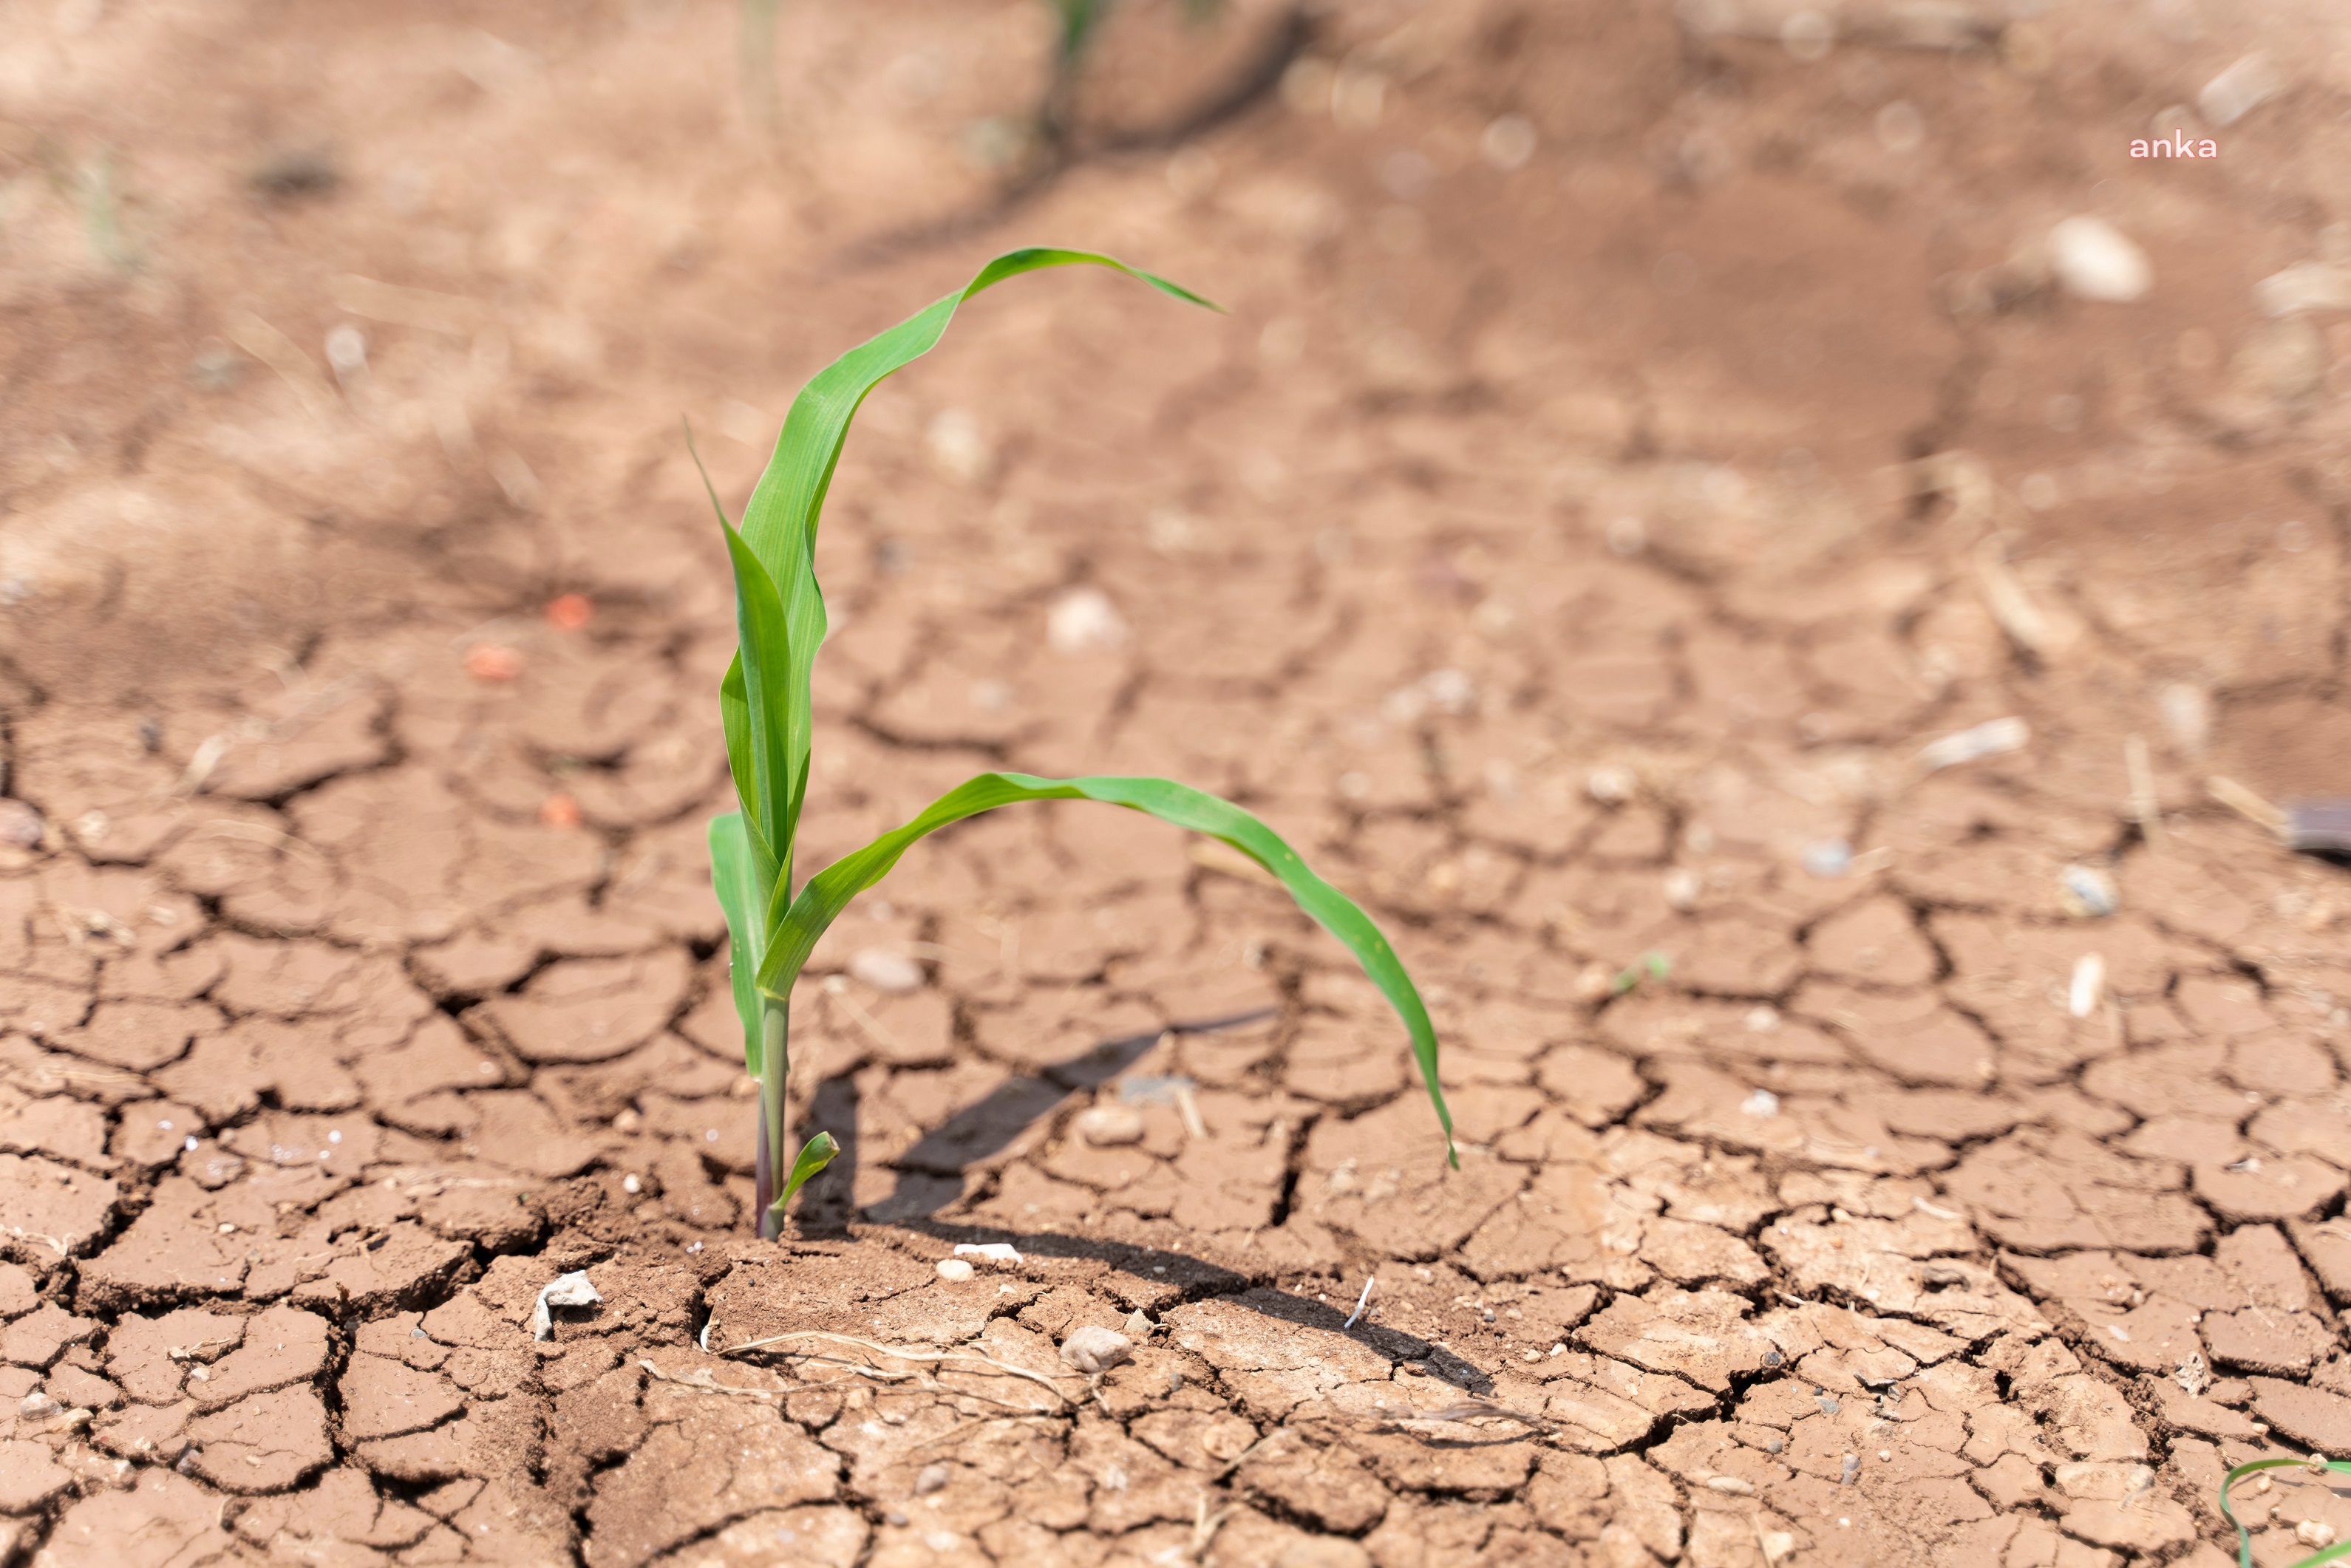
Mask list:
[[[1030,773],[980,773],[966,778],[931,802],[905,827],[884,832],[865,849],[842,856],[809,877],[799,898],[785,910],[781,926],[771,929],[766,957],[759,959],[759,990],[778,999],[790,997],[792,980],[799,976],[799,966],[809,961],[809,952],[816,947],[816,938],[825,933],[825,926],[849,907],[851,898],[882,882],[898,865],[898,856],[919,837],[947,823],[959,823],[966,816],[1030,799],[1098,799],[1145,811],[1161,823],[1223,839],[1270,870],[1288,889],[1291,898],[1298,900],[1300,910],[1312,914],[1324,931],[1354,952],[1364,973],[1371,976],[1371,983],[1396,1009],[1396,1016],[1413,1037],[1420,1081],[1427,1084],[1429,1103],[1436,1105],[1436,1121],[1446,1128],[1446,1157],[1455,1166],[1460,1164],[1460,1157],[1453,1154],[1453,1114],[1446,1110],[1446,1095],[1436,1086],[1436,1027],[1429,1023],[1429,1009],[1422,1006],[1420,992],[1413,990],[1413,978],[1404,971],[1380,929],[1354,900],[1317,877],[1298,858],[1298,851],[1284,844],[1255,816],[1215,795],[1166,778],[1034,778]]]

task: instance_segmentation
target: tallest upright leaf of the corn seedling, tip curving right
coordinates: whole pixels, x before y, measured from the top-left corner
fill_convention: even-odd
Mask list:
[[[858,343],[839,360],[816,371],[799,397],[792,400],[792,411],[783,418],[783,433],[776,437],[776,451],[766,461],[766,473],[759,475],[759,484],[750,494],[750,503],[743,508],[743,543],[750,545],[750,555],[766,567],[783,599],[785,635],[783,644],[790,649],[790,675],[785,682],[785,710],[799,715],[799,722],[785,729],[785,757],[773,773],[788,783],[788,804],[776,818],[778,837],[773,842],[776,856],[790,863],[792,856],[792,830],[799,823],[799,802],[806,795],[809,780],[809,677],[816,670],[816,651],[825,644],[825,595],[816,585],[816,522],[825,508],[825,494],[832,489],[832,470],[842,461],[842,444],[849,440],[849,421],[856,418],[858,404],[872,393],[886,376],[912,364],[922,355],[931,353],[938,339],[947,331],[947,322],[955,320],[957,306],[962,306],[973,294],[992,289],[1006,277],[1018,277],[1020,273],[1034,273],[1049,266],[1107,266],[1128,277],[1138,277],[1150,287],[1159,289],[1180,301],[1194,306],[1208,306],[1201,296],[1178,284],[1140,273],[1110,256],[1096,256],[1093,252],[1065,252],[1065,249],[1018,249],[997,256],[978,270],[978,275],[933,301],[929,308],[917,310],[907,320],[898,322],[889,331]],[[1208,306],[1211,310],[1215,306]],[[724,508],[719,512],[724,520]],[[736,567],[736,581],[741,583],[741,564]],[[734,672],[729,670],[729,682]],[[724,691],[722,691],[724,701]],[[745,703],[750,698],[745,696]],[[734,750],[729,750],[734,759]],[[736,773],[741,780],[741,771]],[[778,903],[790,898],[790,877],[776,884]],[[781,919],[783,910],[771,907],[771,919]]]

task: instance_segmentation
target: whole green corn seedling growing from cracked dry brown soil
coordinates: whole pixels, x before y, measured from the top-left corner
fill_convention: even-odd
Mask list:
[[[1164,277],[1091,252],[1020,249],[997,256],[966,287],[851,348],[799,390],[741,524],[729,522],[717,491],[710,491],[734,562],[738,635],[736,658],[719,684],[726,764],[738,809],[710,823],[710,875],[726,910],[743,1060],[759,1084],[755,1173],[762,1237],[781,1232],[792,1194],[839,1152],[835,1138],[823,1131],[797,1154],[788,1150],[790,997],[792,980],[809,961],[816,940],[851,898],[882,882],[898,856],[924,835],[980,811],[1032,799],[1096,799],[1145,811],[1218,839],[1272,872],[1300,910],[1354,952],[1364,973],[1396,1009],[1444,1126],[1446,1154],[1453,1157],[1453,1117],[1436,1086],[1436,1030],[1387,938],[1345,893],[1307,870],[1307,863],[1265,823],[1215,795],[1166,778],[980,773],[947,790],[915,820],[884,832],[795,889],[792,842],[809,788],[809,677],[825,642],[825,595],[816,585],[816,522],[849,437],[849,421],[884,376],[938,343],[966,299],[1006,277],[1067,263],[1107,266],[1171,299],[1208,303]]]

